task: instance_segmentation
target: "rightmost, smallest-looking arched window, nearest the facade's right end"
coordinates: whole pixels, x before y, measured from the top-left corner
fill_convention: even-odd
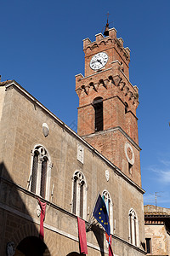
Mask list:
[[[133,245],[139,247],[139,222],[136,215],[136,212],[133,209],[130,209],[128,213],[129,221],[129,241]]]

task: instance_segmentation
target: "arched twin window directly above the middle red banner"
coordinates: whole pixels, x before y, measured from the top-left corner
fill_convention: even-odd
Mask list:
[[[87,218],[87,184],[82,172],[75,172],[72,177],[72,213]]]

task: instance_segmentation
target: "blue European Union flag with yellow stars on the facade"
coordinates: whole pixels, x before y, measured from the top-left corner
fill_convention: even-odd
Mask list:
[[[94,214],[94,218],[97,219],[99,224],[101,224],[104,227],[107,235],[110,236],[111,227],[109,223],[109,216],[105,206],[105,201],[101,198],[101,195],[99,195],[98,197],[93,214]]]

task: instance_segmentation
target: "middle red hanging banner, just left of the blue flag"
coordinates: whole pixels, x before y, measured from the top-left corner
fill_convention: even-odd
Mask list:
[[[80,251],[81,253],[88,254],[85,221],[82,218],[78,218],[78,217],[77,217],[77,221],[78,221],[78,236],[80,241]]]

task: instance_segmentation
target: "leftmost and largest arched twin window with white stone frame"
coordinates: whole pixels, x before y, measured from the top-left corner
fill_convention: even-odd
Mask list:
[[[49,198],[51,163],[48,152],[41,145],[36,146],[31,156],[31,192]]]

